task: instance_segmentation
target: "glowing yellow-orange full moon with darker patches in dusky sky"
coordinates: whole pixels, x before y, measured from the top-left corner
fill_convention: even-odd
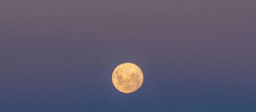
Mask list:
[[[112,82],[120,92],[132,93],[141,87],[143,73],[137,65],[123,63],[118,65],[113,71]]]

